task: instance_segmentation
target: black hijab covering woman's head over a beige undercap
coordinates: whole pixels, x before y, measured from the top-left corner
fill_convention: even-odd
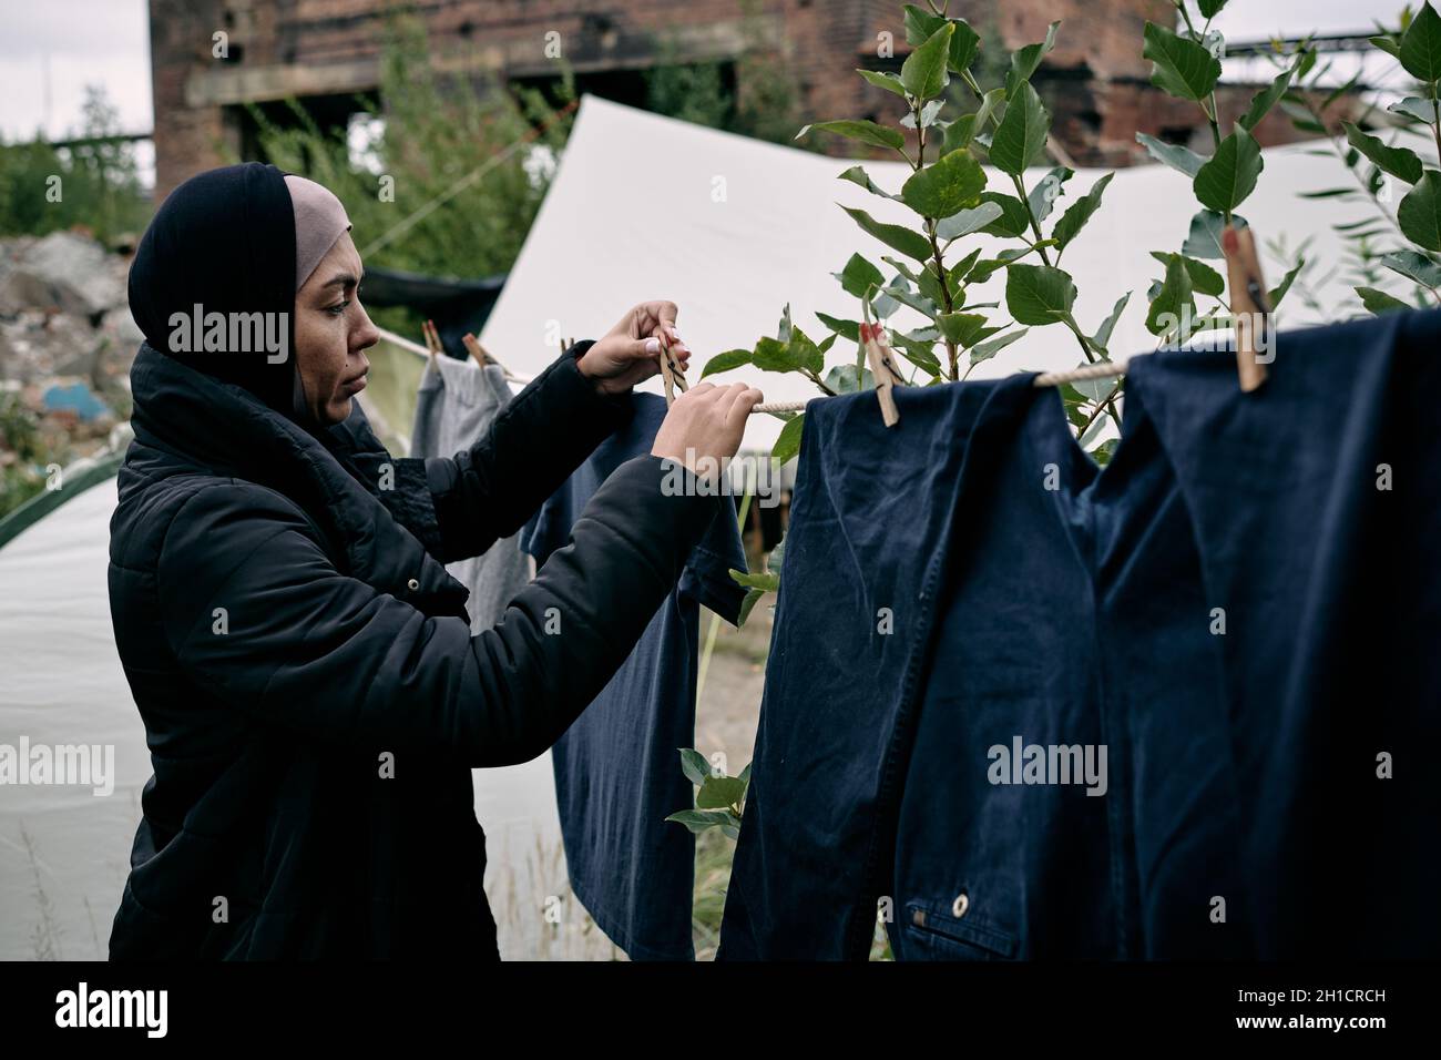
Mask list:
[[[196,349],[193,339],[200,336],[192,324],[197,304],[202,322],[210,313],[226,319],[232,313],[265,314],[262,326],[269,335],[284,335],[285,358],[278,361],[278,350],[265,348]],[[305,420],[294,404],[295,213],[285,175],[275,166],[246,162],[212,169],[176,187],[135,249],[130,312],[154,349],[244,387],[290,420]],[[173,322],[176,314],[184,323]]]

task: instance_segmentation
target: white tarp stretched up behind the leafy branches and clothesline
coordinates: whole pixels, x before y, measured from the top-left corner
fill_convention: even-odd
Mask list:
[[[1285,234],[1294,248],[1314,234],[1310,254],[1330,271],[1342,260],[1330,225],[1360,219],[1366,208],[1297,198],[1297,192],[1352,183],[1337,160],[1306,153],[1316,146],[1267,150],[1259,186],[1241,213],[1262,245]],[[669,299],[680,307],[679,332],[693,350],[692,379],[715,353],[751,349],[762,335],[774,336],[785,303],[795,323],[818,342],[827,329],[814,317],[816,310],[850,320],[859,313],[857,300],[830,274],[859,251],[889,280],[893,270],[880,255],[901,257],[862,232],[836,203],[866,209],[888,224],[918,222],[906,206],[837,180],[852,164],[588,95],[481,340],[513,371],[533,375],[556,356],[562,336],[599,337],[637,301]],[[911,173],[899,159],[862,164],[888,192],[899,192]],[[1056,216],[1105,172],[1078,170]],[[1027,187],[1043,173],[1030,175]],[[1009,177],[990,172],[990,189],[1010,192]],[[1154,349],[1144,326],[1146,293],[1161,268],[1150,251],[1179,251],[1199,209],[1180,173],[1159,164],[1121,170],[1101,211],[1066,251],[1062,265],[1081,291],[1075,316],[1088,333],[1121,294],[1134,291],[1111,342],[1114,356]],[[947,261],[960,260],[974,245],[990,257],[990,251],[1017,244],[968,237],[953,247]],[[1274,261],[1265,267],[1275,284],[1284,270]],[[1323,304],[1339,304],[1349,288],[1333,281],[1317,294]],[[1004,301],[1003,296],[1000,273],[971,288],[967,300]],[[996,314],[997,323],[1009,320],[1004,310]],[[912,310],[896,316],[906,330],[921,320]],[[1317,323],[1294,296],[1278,320],[1288,327]],[[855,346],[837,340],[827,363],[853,363],[853,356]],[[1081,356],[1075,337],[1059,324],[1032,329],[971,378],[1065,369]],[[793,374],[742,368],[715,378],[754,381],[768,401],[807,399],[820,392]],[[660,392],[659,379],[647,389]],[[751,417],[746,447],[768,449],[780,428],[775,417]]]

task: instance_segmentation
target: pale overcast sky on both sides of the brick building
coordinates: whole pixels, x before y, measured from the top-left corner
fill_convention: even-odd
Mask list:
[[[1231,0],[1215,25],[1231,40],[1344,33],[1391,23],[1399,9],[1398,0]],[[0,0],[0,26],[6,140],[76,130],[86,84],[105,87],[127,131],[151,128],[146,0]]]

